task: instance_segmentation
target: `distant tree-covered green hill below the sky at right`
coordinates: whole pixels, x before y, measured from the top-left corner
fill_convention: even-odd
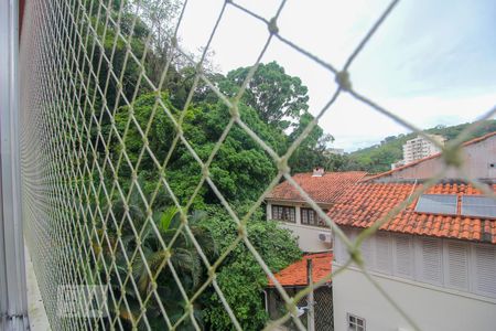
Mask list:
[[[466,122],[452,127],[436,126],[424,130],[424,132],[441,135],[448,140],[452,140],[457,137],[459,134],[462,132],[468,125],[470,124]],[[496,131],[496,120],[486,120],[465,140],[471,140],[493,131]],[[386,137],[382,141],[380,141],[380,143],[349,153],[347,156],[348,160],[346,168],[349,170],[365,170],[370,173],[390,170],[391,163],[395,163],[403,158],[403,143],[416,137],[416,132]]]

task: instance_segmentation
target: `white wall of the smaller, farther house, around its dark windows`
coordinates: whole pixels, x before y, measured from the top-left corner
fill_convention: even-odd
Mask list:
[[[293,234],[298,237],[298,245],[300,249],[309,253],[324,252],[330,250],[332,248],[331,243],[323,243],[319,241],[320,233],[331,234],[330,228],[319,227],[319,226],[310,226],[301,224],[301,214],[300,207],[305,206],[303,203],[289,203],[289,202],[273,202],[277,205],[291,205],[294,206],[296,213],[296,223],[288,223],[281,221],[272,221],[272,203],[267,202],[267,220],[271,222],[278,222],[279,225],[283,228],[289,228],[293,232]]]

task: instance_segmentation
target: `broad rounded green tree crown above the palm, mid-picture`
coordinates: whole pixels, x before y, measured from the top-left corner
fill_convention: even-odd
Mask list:
[[[175,109],[165,93],[162,93],[160,97],[171,116],[179,121],[181,111]],[[115,150],[115,162],[121,153],[125,152],[127,156],[119,168],[122,185],[129,182],[128,179],[131,175],[127,160],[133,168],[140,160],[138,164],[140,173],[147,181],[157,182],[160,172],[155,160],[162,162],[172,147],[176,129],[161,106],[151,118],[155,100],[155,94],[144,94],[134,102],[132,107],[121,107],[115,116],[117,131],[123,136],[123,145],[118,139],[114,139],[111,147]],[[282,131],[263,122],[255,109],[244,104],[239,105],[239,111],[242,120],[267,143],[277,151],[284,150],[287,138]],[[130,117],[131,114],[133,119]],[[184,137],[204,162],[214,150],[229,118],[229,110],[220,102],[201,103],[185,110],[182,122]],[[142,132],[149,122],[149,132],[144,139]],[[110,129],[107,128],[107,130]],[[148,142],[148,149],[142,153],[144,141]],[[276,166],[270,156],[245,130],[234,126],[208,167],[208,171],[220,193],[229,201],[254,201],[276,175]],[[192,196],[201,177],[202,169],[198,162],[184,142],[180,141],[170,154],[165,179],[181,203],[185,203]],[[218,203],[218,199],[206,184],[202,186],[194,207],[202,209],[204,202]],[[172,202],[165,201],[164,204],[166,203]]]

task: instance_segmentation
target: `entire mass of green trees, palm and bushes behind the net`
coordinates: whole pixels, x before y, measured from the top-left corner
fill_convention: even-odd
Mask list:
[[[78,130],[87,135],[79,143],[90,151],[86,161],[98,164],[98,171],[85,178],[89,186],[97,188],[90,190],[89,210],[101,210],[104,215],[103,220],[97,217],[97,235],[88,243],[99,256],[91,269],[110,280],[112,295],[121,299],[120,311],[112,313],[126,328],[144,327],[142,305],[153,329],[166,328],[161,305],[172,323],[187,312],[179,277],[188,298],[202,289],[192,307],[195,322],[208,330],[231,330],[218,293],[212,285],[202,288],[207,270],[181,226],[184,221],[176,203],[188,215],[191,233],[214,263],[238,236],[218,192],[244,215],[276,177],[277,167],[237,124],[223,137],[230,121],[229,109],[203,81],[195,82],[196,67],[185,56],[174,54],[173,62],[166,64],[172,49],[164,35],[171,32],[169,22],[177,14],[175,2],[142,2],[139,17],[131,2],[112,0],[115,12],[109,13],[85,2],[96,34],[88,33],[85,41],[85,46],[94,50],[93,56],[79,57],[80,70],[74,73],[85,82],[78,86],[85,105]],[[104,14],[109,14],[112,23],[104,24]],[[235,97],[250,70],[241,67],[223,75],[207,65],[204,74],[220,92]],[[301,79],[271,62],[256,68],[238,110],[258,137],[283,154],[313,120],[308,100]],[[174,122],[181,125],[182,137]],[[289,160],[292,170],[310,171],[317,164],[338,169],[339,161],[324,156],[331,140],[316,126]],[[191,150],[209,163],[208,175],[218,192],[205,181],[205,169]],[[80,173],[88,173],[84,162],[78,164]],[[88,214],[84,218],[93,217]],[[300,258],[301,252],[289,231],[265,218],[263,209],[257,211],[247,223],[247,235],[267,266],[278,271]],[[170,245],[168,249],[163,244]],[[261,329],[268,319],[262,293],[267,277],[242,241],[216,271],[216,281],[242,328]],[[191,329],[192,322],[185,319],[180,329]]]

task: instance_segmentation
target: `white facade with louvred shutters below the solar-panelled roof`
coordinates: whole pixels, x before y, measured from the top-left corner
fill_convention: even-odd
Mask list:
[[[345,233],[354,238],[358,229]],[[348,256],[334,243],[336,270]],[[496,245],[379,232],[362,253],[373,279],[421,330],[496,329]],[[413,330],[356,266],[333,279],[333,291],[336,331]],[[356,321],[363,328],[351,328]]]

